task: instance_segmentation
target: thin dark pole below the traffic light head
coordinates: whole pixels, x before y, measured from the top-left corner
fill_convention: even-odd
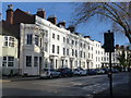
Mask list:
[[[111,50],[109,51],[109,86],[110,86],[110,98],[111,98],[112,97]]]

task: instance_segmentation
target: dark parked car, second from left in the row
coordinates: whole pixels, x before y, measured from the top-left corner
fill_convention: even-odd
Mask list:
[[[58,70],[62,77],[73,76],[73,72],[69,68],[62,68]]]

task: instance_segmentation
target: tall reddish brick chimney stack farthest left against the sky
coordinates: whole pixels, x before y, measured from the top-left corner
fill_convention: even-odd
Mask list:
[[[8,5],[7,10],[7,23],[13,24],[13,4]]]

